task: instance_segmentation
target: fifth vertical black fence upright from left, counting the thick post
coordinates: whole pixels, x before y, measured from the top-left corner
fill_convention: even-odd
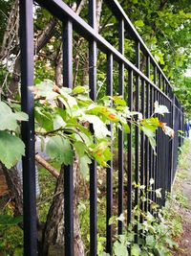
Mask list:
[[[118,51],[124,55],[124,20],[119,21]],[[124,98],[124,64],[118,64],[118,94]],[[123,130],[118,131],[118,216],[123,212]],[[118,234],[122,234],[122,221],[118,221]]]

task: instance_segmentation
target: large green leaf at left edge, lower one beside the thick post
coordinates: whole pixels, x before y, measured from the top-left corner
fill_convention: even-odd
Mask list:
[[[0,160],[11,168],[25,154],[22,140],[7,131],[0,131]]]

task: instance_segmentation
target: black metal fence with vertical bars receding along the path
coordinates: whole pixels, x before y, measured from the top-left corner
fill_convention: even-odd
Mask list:
[[[97,49],[107,56],[107,95],[113,94],[113,65],[118,64],[118,94],[128,102],[130,110],[136,109],[143,116],[149,117],[154,111],[154,103],[166,105],[170,114],[163,117],[162,122],[174,128],[176,136],[173,140],[157,132],[157,155],[151,149],[148,139],[138,128],[132,129],[128,135],[127,146],[127,184],[124,184],[124,136],[118,134],[118,215],[127,210],[127,221],[132,219],[132,195],[135,193],[135,203],[138,203],[138,189],[133,189],[133,178],[140,184],[149,186],[149,179],[155,179],[155,189],[162,188],[162,198],[156,198],[152,193],[149,198],[159,205],[165,202],[165,192],[171,190],[176,174],[178,148],[182,139],[177,136],[183,129],[183,111],[179,100],[173,94],[172,87],[159,68],[135,27],[122,10],[117,0],[105,0],[118,23],[118,49],[112,46],[96,31],[96,0],[89,0],[88,23],[79,17],[62,0],[36,0],[36,2],[51,12],[62,22],[63,28],[63,84],[73,87],[73,34],[82,35],[89,44],[89,86],[90,97],[96,100],[96,58]],[[33,84],[33,20],[32,0],[20,0],[20,38],[21,38],[21,93],[22,110],[29,114],[29,122],[22,124],[22,137],[26,144],[26,156],[23,157],[23,187],[24,187],[24,255],[37,254],[36,245],[36,205],[35,205],[35,168],[34,168],[34,121],[33,95],[30,86]],[[136,63],[132,63],[124,54],[124,35],[131,36],[135,42]],[[140,58],[146,58],[145,74],[140,71]],[[128,82],[124,73],[128,73]],[[116,76],[116,75],[115,75]],[[151,80],[151,77],[153,78]],[[135,88],[136,97],[133,96]],[[135,104],[134,104],[134,99]],[[130,125],[131,126],[131,125]],[[134,136],[133,136],[134,135]],[[135,143],[133,142],[135,138]],[[133,151],[133,144],[135,149]],[[135,155],[134,155],[135,154]],[[90,167],[90,255],[97,254],[97,173],[96,162]],[[64,178],[65,197],[65,255],[74,255],[74,205],[73,198],[73,167],[67,167]],[[124,194],[124,185],[127,193]],[[127,198],[125,198],[127,197]],[[109,219],[113,215],[113,167],[107,170],[107,206],[106,206],[106,251],[112,251],[112,225]],[[127,203],[126,203],[127,202]],[[142,205],[144,210],[149,205]],[[122,223],[118,222],[118,234],[122,233]]]

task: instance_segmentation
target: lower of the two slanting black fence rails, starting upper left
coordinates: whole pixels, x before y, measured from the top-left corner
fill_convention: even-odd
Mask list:
[[[45,7],[49,12],[54,16],[59,18],[61,21],[65,21],[67,16],[69,19],[73,20],[74,29],[83,35],[88,40],[96,40],[97,46],[105,53],[108,52],[114,55],[114,58],[118,62],[124,63],[126,68],[131,68],[138,76],[151,84],[155,89],[159,91],[169,102],[172,102],[171,99],[159,89],[159,87],[153,82],[150,81],[131,61],[125,58],[120,54],[117,49],[112,46],[105,38],[99,35],[96,30],[94,30],[90,25],[88,25],[79,15],[77,15],[67,4],[62,2],[62,0],[35,0],[40,6]]]

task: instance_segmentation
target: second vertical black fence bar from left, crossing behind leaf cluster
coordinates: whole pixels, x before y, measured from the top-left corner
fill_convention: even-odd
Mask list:
[[[63,23],[63,84],[73,88],[73,23]],[[74,174],[73,166],[64,167],[65,255],[74,255]]]

